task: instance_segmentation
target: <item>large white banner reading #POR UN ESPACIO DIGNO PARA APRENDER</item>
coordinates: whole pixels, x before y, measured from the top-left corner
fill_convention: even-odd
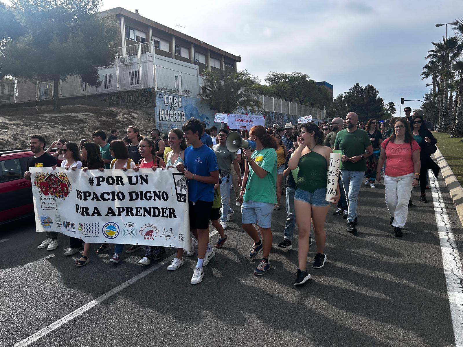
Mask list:
[[[30,171],[38,232],[191,249],[187,181],[176,168]]]

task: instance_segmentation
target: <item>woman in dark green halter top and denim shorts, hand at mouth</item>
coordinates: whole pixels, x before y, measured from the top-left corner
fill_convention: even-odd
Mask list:
[[[324,134],[315,123],[302,124],[300,134],[297,137],[299,147],[288,161],[290,170],[299,167],[294,194],[294,210],[299,228],[297,249],[299,268],[294,285],[302,285],[310,279],[306,270],[306,263],[311,223],[317,242],[317,255],[312,267],[321,268],[325,265],[325,220],[330,209],[330,203],[325,201],[325,194],[332,150],[322,145],[324,138]],[[340,196],[338,185],[336,196],[332,198],[332,204],[337,204]]]

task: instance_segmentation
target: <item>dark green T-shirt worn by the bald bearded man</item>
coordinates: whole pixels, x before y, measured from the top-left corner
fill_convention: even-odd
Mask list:
[[[342,155],[347,155],[349,158],[356,155],[363,155],[365,149],[371,146],[369,135],[365,130],[358,129],[354,132],[348,132],[347,129],[341,130],[336,136],[334,148],[341,150]],[[351,161],[341,162],[341,170],[350,171],[365,171],[367,168],[366,160],[360,159],[356,163]]]

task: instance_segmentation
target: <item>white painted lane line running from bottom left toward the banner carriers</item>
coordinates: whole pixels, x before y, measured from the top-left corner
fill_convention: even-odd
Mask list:
[[[217,230],[209,233],[209,236],[213,236],[217,234]],[[149,269],[145,270],[142,273],[139,273],[137,276],[129,279],[128,281],[122,283],[121,285],[118,285],[117,287],[113,288],[112,290],[106,292],[105,294],[101,295],[100,297],[97,297],[96,299],[90,301],[89,303],[79,307],[77,310],[69,313],[68,315],[58,319],[56,322],[51,323],[50,325],[46,326],[45,328],[39,330],[37,333],[32,334],[29,337],[26,337],[24,340],[19,341],[14,345],[14,347],[25,347],[29,346],[31,343],[37,341],[38,339],[44,337],[47,334],[50,334],[53,330],[56,328],[61,327],[62,325],[66,324],[67,322],[71,321],[75,317],[80,316],[82,313],[87,312],[90,310],[92,307],[101,304],[103,301],[105,301],[107,298],[112,297],[114,294],[118,293],[119,291],[122,291],[123,289],[127,288],[129,285],[137,282],[138,280],[144,278],[146,275],[149,275],[153,271],[159,269],[161,266],[164,266],[172,261],[174,259],[176,253],[172,254],[169,258],[164,259],[163,261],[159,262],[156,264],[156,266],[150,267]]]

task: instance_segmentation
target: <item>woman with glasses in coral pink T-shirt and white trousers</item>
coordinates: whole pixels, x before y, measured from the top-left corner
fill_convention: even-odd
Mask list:
[[[402,236],[402,228],[407,222],[408,200],[412,187],[419,182],[419,144],[413,139],[410,125],[406,118],[399,118],[393,125],[392,135],[381,144],[378,167],[386,161],[384,185],[386,188],[386,205],[391,216],[394,236]],[[376,180],[381,181],[378,171]]]

